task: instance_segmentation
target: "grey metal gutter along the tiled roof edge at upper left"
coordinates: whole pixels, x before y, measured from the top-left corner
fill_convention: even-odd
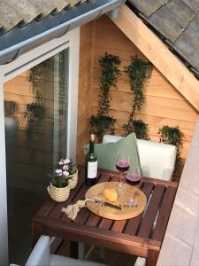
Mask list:
[[[0,36],[0,65],[10,63],[19,55],[65,35],[75,27],[96,20],[124,2],[124,0],[84,2],[68,11],[58,12],[57,15],[50,14],[40,22],[33,20],[26,27],[11,29],[5,35]]]

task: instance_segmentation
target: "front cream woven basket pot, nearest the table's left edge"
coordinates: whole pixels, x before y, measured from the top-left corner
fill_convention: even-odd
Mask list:
[[[70,194],[69,185],[65,187],[56,187],[50,183],[50,198],[57,202],[63,202],[68,199]]]

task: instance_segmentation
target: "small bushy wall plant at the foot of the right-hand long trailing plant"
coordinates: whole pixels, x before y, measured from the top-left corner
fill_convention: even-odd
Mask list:
[[[137,138],[149,140],[148,124],[146,124],[142,120],[130,121],[129,123],[124,124],[122,128],[126,132],[124,136],[127,136],[134,132]]]

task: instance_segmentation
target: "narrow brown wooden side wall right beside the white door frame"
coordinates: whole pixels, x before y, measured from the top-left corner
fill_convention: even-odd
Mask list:
[[[83,145],[89,140],[89,117],[92,114],[90,80],[92,74],[92,30],[93,23],[80,28],[80,74],[78,97],[77,162],[84,164]]]

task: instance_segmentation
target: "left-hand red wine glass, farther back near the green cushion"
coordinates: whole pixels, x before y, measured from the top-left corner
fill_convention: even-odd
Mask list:
[[[119,153],[119,156],[116,160],[116,168],[120,172],[120,181],[118,185],[118,189],[121,190],[123,186],[123,172],[126,172],[129,168],[129,156],[126,154]]]

